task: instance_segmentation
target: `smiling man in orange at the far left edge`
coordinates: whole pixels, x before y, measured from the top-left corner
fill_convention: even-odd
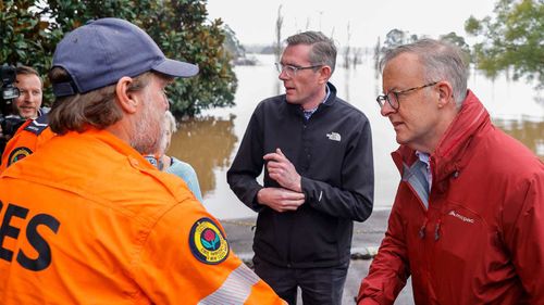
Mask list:
[[[13,112],[26,122],[21,122],[21,127],[10,136],[5,148],[1,150],[0,174],[54,136],[48,128],[49,109],[41,107],[44,81],[38,72],[29,66],[17,66],[15,86],[21,94],[13,102]]]

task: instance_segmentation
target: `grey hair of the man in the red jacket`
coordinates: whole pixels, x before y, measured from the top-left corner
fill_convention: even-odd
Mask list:
[[[380,61],[380,71],[383,72],[391,60],[403,53],[412,53],[419,58],[426,82],[446,80],[452,84],[455,103],[457,107],[461,106],[467,97],[468,78],[468,65],[461,49],[446,41],[421,39],[387,50]]]

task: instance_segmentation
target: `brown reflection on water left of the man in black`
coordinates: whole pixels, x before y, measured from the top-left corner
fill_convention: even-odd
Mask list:
[[[230,156],[238,138],[234,134],[235,115],[227,119],[212,116],[191,118],[180,124],[172,136],[168,154],[195,168],[202,196],[217,188],[214,169],[230,166]]]

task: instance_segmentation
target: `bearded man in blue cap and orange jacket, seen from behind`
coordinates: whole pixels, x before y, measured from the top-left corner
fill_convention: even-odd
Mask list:
[[[141,156],[160,144],[165,86],[197,73],[118,18],[57,46],[58,136],[0,176],[0,304],[285,304]]]

